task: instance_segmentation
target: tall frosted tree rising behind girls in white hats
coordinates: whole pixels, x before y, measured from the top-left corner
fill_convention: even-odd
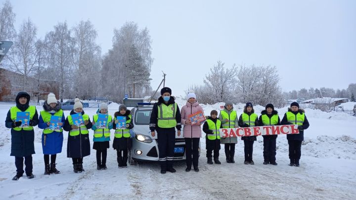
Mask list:
[[[63,98],[73,97],[73,40],[67,22],[59,22],[53,31],[46,34],[45,49],[48,62],[46,76],[59,81],[59,98],[63,102]]]

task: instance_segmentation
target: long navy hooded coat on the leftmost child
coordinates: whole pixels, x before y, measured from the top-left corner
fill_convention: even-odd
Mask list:
[[[19,95],[25,95],[27,103],[22,105],[19,102]],[[30,95],[26,92],[19,92],[16,96],[16,107],[20,109],[22,112],[25,112],[29,107]],[[36,126],[39,123],[39,117],[37,114],[37,110],[35,112],[34,117],[32,118],[32,126]],[[15,157],[25,157],[32,154],[35,154],[35,132],[34,130],[23,130],[20,131],[13,129],[14,121],[11,120],[10,110],[7,112],[5,126],[7,128],[11,128],[11,153],[10,156]]]

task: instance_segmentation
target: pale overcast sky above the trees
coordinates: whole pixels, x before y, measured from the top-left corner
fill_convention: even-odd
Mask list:
[[[1,4],[4,0],[0,0]],[[38,37],[58,22],[90,20],[106,53],[113,29],[133,21],[152,39],[152,88],[167,74],[173,95],[221,60],[276,66],[285,91],[356,82],[356,0],[10,0],[16,30],[28,17]]]

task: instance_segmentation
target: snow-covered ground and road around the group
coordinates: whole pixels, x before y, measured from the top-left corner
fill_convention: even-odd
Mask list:
[[[179,107],[184,100],[177,100]],[[202,105],[206,115],[223,103]],[[66,158],[67,139],[57,155],[60,174],[43,175],[42,131],[35,128],[33,155],[36,178],[12,181],[14,158],[10,157],[10,130],[4,125],[12,104],[0,104],[0,196],[3,199],[356,199],[356,118],[344,113],[306,110],[310,128],[305,131],[301,167],[288,166],[288,144],[277,138],[278,166],[263,165],[262,137],[254,144],[255,165],[243,164],[243,143],[236,146],[235,161],[208,165],[205,139],[201,138],[200,172],[185,172],[184,161],[174,163],[176,173],[159,173],[157,162],[117,168],[116,151],[108,150],[107,170],[96,170],[95,151],[84,158],[84,173],[75,174],[72,160]],[[235,105],[238,115],[243,104]],[[41,107],[37,107],[41,111]],[[109,105],[111,115],[118,105]],[[256,113],[264,109],[256,106]],[[277,109],[280,118],[287,108]],[[85,109],[92,116],[96,109]],[[65,111],[67,116],[69,111]],[[90,132],[92,137],[92,131]],[[65,136],[67,133],[65,132]],[[205,134],[203,134],[205,135]],[[92,143],[91,143],[92,144]]]

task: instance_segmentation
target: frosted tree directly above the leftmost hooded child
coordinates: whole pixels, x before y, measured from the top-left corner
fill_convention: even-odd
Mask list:
[[[37,64],[36,50],[37,28],[28,18],[21,25],[20,31],[15,38],[14,44],[10,48],[9,60],[12,64],[12,70],[23,75],[23,81],[20,85],[24,90],[28,90],[33,85],[28,85],[27,79],[31,76]]]

